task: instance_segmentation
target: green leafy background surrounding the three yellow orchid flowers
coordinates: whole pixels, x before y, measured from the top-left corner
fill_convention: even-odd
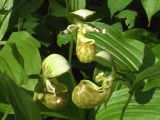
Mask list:
[[[2,120],[159,120],[160,115],[159,0],[1,0],[0,118]],[[71,100],[82,79],[94,80],[103,64],[82,64],[75,55],[76,33],[63,35],[69,13],[89,9],[86,23],[106,33],[90,32],[96,50],[112,54],[117,68],[113,94],[94,109],[78,108]],[[69,88],[69,103],[54,111],[32,100],[41,61],[58,53],[72,72],[58,79]],[[101,67],[99,67],[101,66]],[[103,67],[102,67],[103,66]]]

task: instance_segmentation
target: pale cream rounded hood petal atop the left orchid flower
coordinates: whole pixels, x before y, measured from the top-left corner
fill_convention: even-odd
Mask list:
[[[59,54],[49,55],[42,63],[42,74],[45,78],[54,78],[69,71],[67,60]]]

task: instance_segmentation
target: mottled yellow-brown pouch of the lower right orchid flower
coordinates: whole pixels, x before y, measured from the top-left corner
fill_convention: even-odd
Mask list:
[[[82,80],[72,92],[72,101],[80,108],[94,108],[105,102],[109,91],[89,80]]]

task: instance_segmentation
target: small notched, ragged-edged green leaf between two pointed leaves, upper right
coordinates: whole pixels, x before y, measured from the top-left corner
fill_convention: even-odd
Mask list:
[[[125,18],[125,24],[128,26],[128,28],[134,27],[134,22],[137,17],[136,11],[131,10],[123,10],[118,15],[116,15],[118,18]]]

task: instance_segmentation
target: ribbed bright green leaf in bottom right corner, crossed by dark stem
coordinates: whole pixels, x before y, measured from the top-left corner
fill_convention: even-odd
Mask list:
[[[97,111],[96,120],[119,120],[122,108],[128,98],[128,90],[123,89],[113,93],[109,100],[107,107],[101,108]],[[157,90],[152,100],[147,104],[137,104],[132,98],[129,103],[123,120],[159,120],[160,111],[160,91]]]

